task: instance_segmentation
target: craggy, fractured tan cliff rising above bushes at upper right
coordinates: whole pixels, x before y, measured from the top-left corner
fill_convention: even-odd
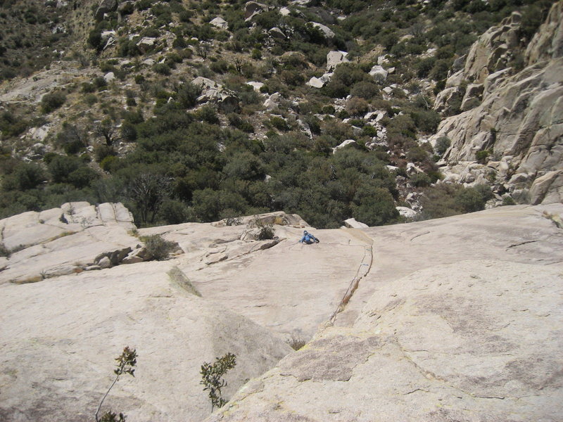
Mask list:
[[[483,34],[472,46],[460,75],[450,77],[472,82],[467,90],[448,87],[436,98],[438,110],[467,110],[443,120],[433,138],[447,136],[451,140],[445,160],[450,165],[472,162],[479,151],[502,157],[509,166],[507,171],[497,172],[496,165],[487,170],[502,186],[499,194],[514,191],[510,179],[517,174],[529,180],[524,187],[527,192],[534,179],[563,170],[562,4],[559,1],[552,6],[546,22],[526,51],[521,51],[526,65],[523,70],[514,72],[506,67],[510,53],[518,51],[519,15],[513,14]],[[543,198],[548,203],[557,196],[546,191]]]

